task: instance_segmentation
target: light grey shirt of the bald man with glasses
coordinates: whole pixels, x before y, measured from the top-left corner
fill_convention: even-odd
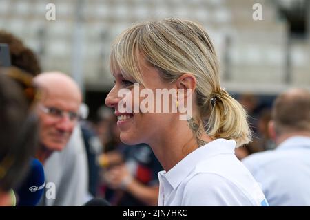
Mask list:
[[[55,186],[55,197],[44,197],[39,206],[82,206],[92,199],[88,192],[87,154],[81,127],[74,127],[68,144],[52,153],[44,164],[45,179]],[[48,188],[45,188],[46,192]]]

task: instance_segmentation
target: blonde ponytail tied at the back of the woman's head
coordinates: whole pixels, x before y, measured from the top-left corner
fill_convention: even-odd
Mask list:
[[[206,124],[207,134],[213,138],[233,139],[236,147],[251,141],[251,131],[247,123],[247,112],[237,100],[224,89],[212,93],[207,100],[211,113]]]

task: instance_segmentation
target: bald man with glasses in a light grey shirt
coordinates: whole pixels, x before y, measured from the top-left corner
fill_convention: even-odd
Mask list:
[[[81,206],[88,190],[87,157],[77,126],[81,90],[61,72],[39,74],[34,80],[44,89],[38,106],[41,147],[37,158],[44,164],[46,181],[56,187],[55,197],[43,197],[39,205]]]

